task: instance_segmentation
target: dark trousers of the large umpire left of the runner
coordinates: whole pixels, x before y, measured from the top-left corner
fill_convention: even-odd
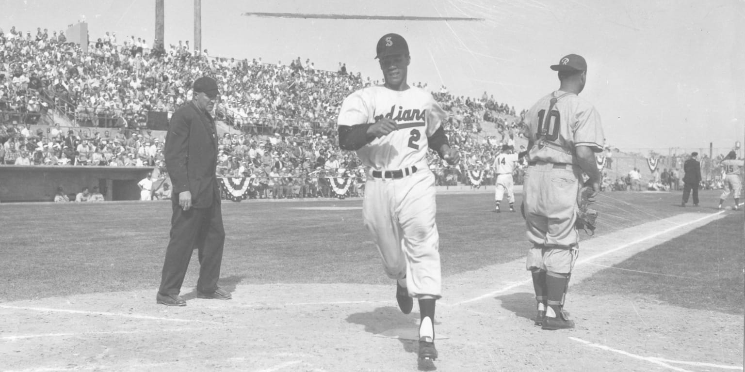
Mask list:
[[[197,291],[212,293],[218,289],[220,265],[223,260],[225,230],[220,199],[212,200],[209,208],[189,208],[184,211],[177,198],[173,200],[171,241],[165,249],[165,263],[160,280],[162,295],[178,295],[194,249],[199,251]]]

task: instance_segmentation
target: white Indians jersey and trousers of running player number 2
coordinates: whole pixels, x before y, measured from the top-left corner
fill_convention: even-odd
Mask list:
[[[447,118],[432,94],[410,87],[394,91],[371,86],[349,94],[341,105],[339,126],[375,123],[378,118],[396,121],[398,129],[357,150],[375,170],[414,173],[399,179],[367,177],[362,219],[390,278],[403,280],[409,295],[440,298],[440,235],[435,223],[434,174],[427,166],[428,137]]]

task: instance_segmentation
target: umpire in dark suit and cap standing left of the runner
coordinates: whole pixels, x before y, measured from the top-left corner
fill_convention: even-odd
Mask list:
[[[218,100],[218,83],[211,77],[194,81],[191,102],[174,112],[165,137],[165,166],[173,183],[171,241],[156,296],[158,304],[186,306],[179,296],[191,253],[199,251],[197,298],[227,300],[218,287],[225,230],[220,187],[215,176],[218,135],[209,112]]]

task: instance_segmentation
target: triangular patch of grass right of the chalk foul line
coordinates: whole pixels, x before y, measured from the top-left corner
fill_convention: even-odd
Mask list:
[[[745,214],[728,213],[613,266],[618,269],[603,269],[572,291],[641,294],[679,307],[743,314]]]

